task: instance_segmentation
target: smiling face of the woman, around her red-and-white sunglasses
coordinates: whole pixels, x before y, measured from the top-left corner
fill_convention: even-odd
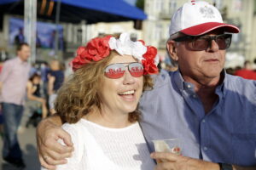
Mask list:
[[[115,54],[108,65],[116,63],[128,65],[132,62],[137,62],[137,60],[131,55]],[[128,67],[125,67],[123,77],[113,79],[103,76],[101,88],[98,90],[102,101],[102,114],[128,114],[135,111],[142,92],[143,76],[132,77]]]

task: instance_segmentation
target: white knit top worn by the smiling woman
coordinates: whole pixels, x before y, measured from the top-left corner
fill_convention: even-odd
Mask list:
[[[62,127],[72,137],[74,152],[66,165],[57,166],[58,170],[154,169],[138,122],[129,127],[108,128],[81,119]]]

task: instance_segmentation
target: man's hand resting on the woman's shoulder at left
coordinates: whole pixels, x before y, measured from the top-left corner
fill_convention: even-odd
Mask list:
[[[70,135],[61,128],[61,124],[60,116],[50,116],[37,127],[38,157],[41,165],[47,169],[67,163],[66,158],[73,152]],[[61,145],[58,139],[63,139],[67,146]]]

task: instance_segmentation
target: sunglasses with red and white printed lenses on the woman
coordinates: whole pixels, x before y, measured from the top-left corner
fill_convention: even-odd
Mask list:
[[[133,62],[133,63],[115,63],[112,65],[108,65],[104,74],[108,78],[120,78],[125,75],[126,67],[128,67],[128,71],[130,72],[132,77],[142,77],[144,68],[141,63]]]

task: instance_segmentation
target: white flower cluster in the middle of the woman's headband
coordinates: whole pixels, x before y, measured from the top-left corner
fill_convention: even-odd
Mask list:
[[[122,33],[119,39],[111,37],[108,44],[109,48],[114,49],[120,55],[132,55],[140,61],[143,60],[143,54],[147,52],[143,42],[132,42],[128,33]]]

